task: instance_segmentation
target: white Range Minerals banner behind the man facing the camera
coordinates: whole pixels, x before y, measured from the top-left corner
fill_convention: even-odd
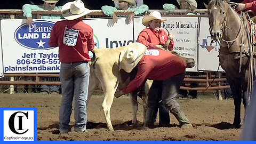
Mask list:
[[[143,17],[134,18],[134,37],[138,38],[140,31],[146,27],[142,25]],[[197,71],[197,30],[198,17],[162,17],[167,21],[162,23],[162,29],[173,33],[174,51],[181,56],[194,58],[195,67],[186,71]],[[166,30],[167,29],[167,30]]]

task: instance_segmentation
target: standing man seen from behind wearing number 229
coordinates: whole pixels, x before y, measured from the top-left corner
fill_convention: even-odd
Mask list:
[[[83,22],[90,13],[80,0],[63,5],[61,14],[67,20],[58,21],[52,27],[49,46],[59,46],[60,82],[62,100],[59,111],[60,133],[70,131],[69,122],[73,97],[75,97],[76,132],[86,131],[86,101],[89,86],[88,52],[94,49],[93,30]]]

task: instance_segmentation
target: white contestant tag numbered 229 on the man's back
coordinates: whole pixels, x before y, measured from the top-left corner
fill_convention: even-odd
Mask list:
[[[79,30],[65,28],[64,36],[63,36],[63,44],[68,46],[75,46]]]

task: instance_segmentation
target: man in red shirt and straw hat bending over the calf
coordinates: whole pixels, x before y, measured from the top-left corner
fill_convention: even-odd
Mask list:
[[[158,91],[163,105],[177,118],[180,126],[192,127],[175,100],[185,76],[186,62],[164,50],[147,50],[146,53],[145,51],[146,49],[142,50],[141,47],[134,47],[121,52],[120,67],[130,73],[137,66],[138,71],[135,78],[123,90],[116,92],[115,96],[118,98],[137,90],[147,79],[154,80],[149,93]],[[157,95],[148,97],[145,126],[154,125],[152,119],[157,105]]]

